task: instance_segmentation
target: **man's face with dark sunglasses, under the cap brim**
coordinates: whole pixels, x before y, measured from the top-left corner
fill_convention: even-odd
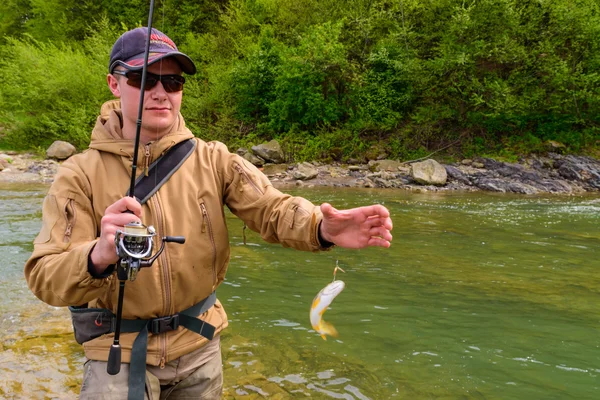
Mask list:
[[[148,72],[156,75],[181,75],[181,67],[172,58],[166,58],[148,66]],[[140,71],[141,73],[141,71]],[[116,97],[121,99],[123,112],[123,136],[135,138],[140,89],[127,84],[127,77],[108,75],[108,86]],[[144,91],[144,109],[142,113],[141,142],[158,140],[169,133],[177,121],[181,109],[183,91],[167,92],[162,82]]]

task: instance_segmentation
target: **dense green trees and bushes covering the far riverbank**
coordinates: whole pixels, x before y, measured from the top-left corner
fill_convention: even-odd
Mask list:
[[[148,3],[0,4],[0,148],[85,148],[112,43]],[[600,149],[596,0],[163,0],[154,26],[198,66],[183,114],[235,149],[401,160]]]

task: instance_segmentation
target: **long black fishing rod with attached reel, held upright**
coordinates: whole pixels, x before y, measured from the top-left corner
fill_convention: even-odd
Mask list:
[[[146,49],[144,51],[144,64],[142,66],[142,83],[140,87],[140,100],[135,130],[135,144],[133,151],[133,165],[131,166],[131,182],[129,185],[129,196],[135,198],[135,184],[137,175],[138,148],[142,129],[142,114],[144,112],[144,95],[146,89],[146,75],[148,70],[148,56],[150,53],[150,36],[152,35],[152,17],[154,14],[154,0],[150,0],[150,11],[148,13],[148,34],[146,37]],[[131,213],[127,210],[126,212]],[[153,226],[145,226],[140,222],[130,222],[117,230],[115,245],[117,248],[117,278],[119,279],[119,298],[117,300],[117,316],[115,323],[115,336],[110,346],[106,372],[116,375],[121,370],[121,320],[123,315],[123,298],[125,296],[125,282],[134,281],[140,268],[150,267],[152,263],[165,249],[165,243],[174,242],[183,244],[185,238],[182,236],[165,236],[162,238],[160,249],[151,256],[153,241],[156,235]]]

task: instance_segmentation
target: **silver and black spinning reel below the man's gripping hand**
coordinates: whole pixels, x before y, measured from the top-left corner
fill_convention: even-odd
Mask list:
[[[150,267],[160,256],[166,243],[185,243],[183,236],[165,236],[162,238],[160,249],[151,256],[154,247],[154,236],[156,236],[156,230],[152,225],[145,226],[139,222],[131,222],[125,225],[122,231],[117,231],[115,245],[119,256],[117,262],[119,280],[133,282],[140,268]]]

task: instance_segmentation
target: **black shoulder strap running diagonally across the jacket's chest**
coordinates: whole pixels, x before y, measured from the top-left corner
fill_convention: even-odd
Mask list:
[[[135,197],[140,204],[147,202],[169,180],[195,148],[195,139],[184,140],[171,147],[166,154],[150,165],[148,175],[142,174],[135,182]],[[127,196],[129,196],[129,190]]]

